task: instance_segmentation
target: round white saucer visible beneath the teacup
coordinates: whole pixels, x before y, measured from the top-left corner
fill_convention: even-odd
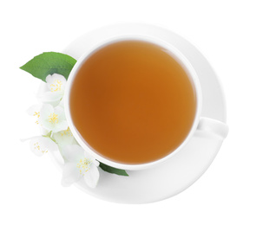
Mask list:
[[[121,35],[154,35],[180,49],[199,75],[203,96],[202,116],[226,122],[226,103],[213,68],[190,42],[167,29],[145,24],[112,25],[82,35],[70,43],[63,53],[78,59],[88,48],[102,42],[103,38]],[[82,180],[75,186],[110,202],[160,201],[186,190],[194,183],[213,162],[222,141],[223,139],[210,132],[197,131],[184,149],[168,159],[165,164],[150,170],[128,170],[129,177],[109,174],[100,169],[101,177],[95,189],[90,189]],[[56,163],[62,167],[61,162]]]

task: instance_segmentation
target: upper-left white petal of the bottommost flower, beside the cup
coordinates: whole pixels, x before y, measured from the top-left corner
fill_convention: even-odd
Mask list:
[[[80,145],[62,146],[62,156],[68,162],[77,163],[81,158],[84,158],[84,150]]]

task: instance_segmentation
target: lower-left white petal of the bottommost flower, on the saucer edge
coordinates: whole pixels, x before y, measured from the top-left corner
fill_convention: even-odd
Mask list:
[[[62,170],[62,186],[69,187],[80,178],[80,172],[75,163],[65,163]]]

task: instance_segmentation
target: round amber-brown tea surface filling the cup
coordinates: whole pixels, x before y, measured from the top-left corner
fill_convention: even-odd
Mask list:
[[[75,76],[70,113],[100,155],[144,164],[174,151],[194,123],[191,79],[165,48],[121,41],[97,49]]]

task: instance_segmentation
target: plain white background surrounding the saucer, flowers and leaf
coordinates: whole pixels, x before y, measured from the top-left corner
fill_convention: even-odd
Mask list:
[[[1,23],[0,224],[256,224],[255,1],[4,1]],[[230,132],[207,172],[162,202],[104,202],[62,188],[50,158],[20,138],[33,136],[25,113],[38,81],[18,67],[45,51],[62,51],[106,24],[142,22],[183,35],[220,76]],[[154,182],[154,177],[152,179]]]

